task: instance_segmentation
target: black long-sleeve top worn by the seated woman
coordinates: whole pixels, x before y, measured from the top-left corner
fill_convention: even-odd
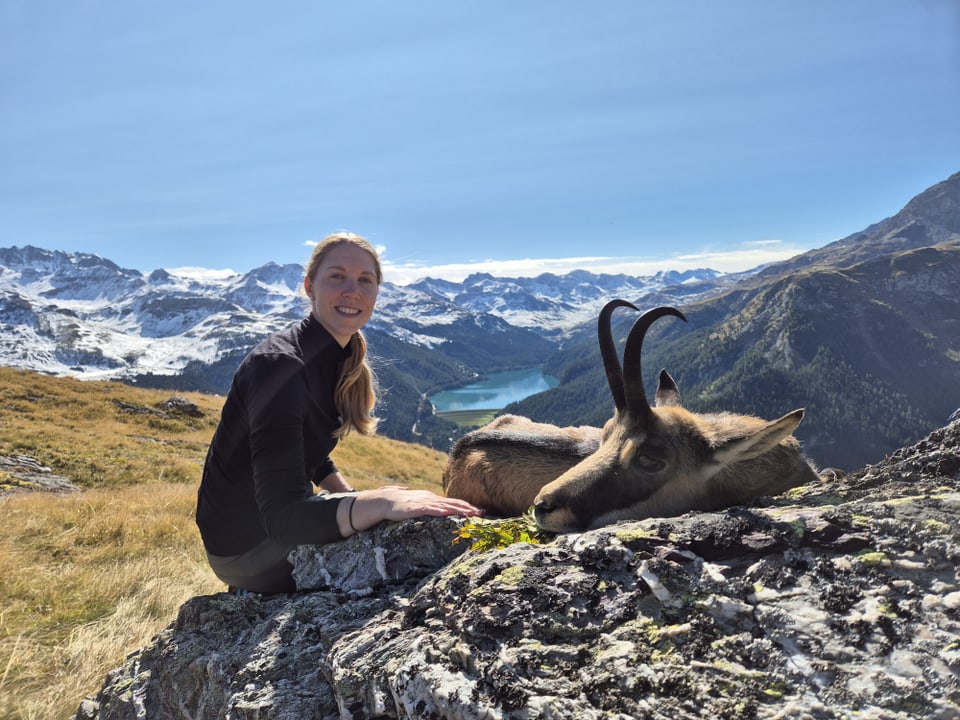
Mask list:
[[[308,500],[313,484],[336,471],[330,452],[341,421],[334,390],[349,354],[311,315],[244,358],[197,496],[208,552],[239,555],[265,538],[290,545],[342,539],[340,498]]]

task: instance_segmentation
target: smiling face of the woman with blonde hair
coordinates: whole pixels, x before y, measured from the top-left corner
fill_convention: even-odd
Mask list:
[[[363,248],[349,243],[327,251],[312,278],[304,278],[313,316],[346,347],[367,324],[377,302],[377,266]]]

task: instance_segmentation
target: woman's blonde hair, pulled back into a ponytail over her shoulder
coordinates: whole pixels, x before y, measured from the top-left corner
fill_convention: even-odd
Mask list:
[[[344,244],[355,245],[373,258],[377,285],[380,285],[383,271],[376,248],[366,238],[348,232],[333,233],[317,243],[307,262],[307,277],[312,281],[327,253]],[[344,361],[343,370],[340,371],[333,401],[343,419],[343,424],[334,431],[334,437],[349,435],[351,430],[361,435],[373,435],[376,432],[378,420],[373,416],[373,408],[377,404],[377,380],[367,362],[366,338],[359,330],[350,338],[350,357]]]

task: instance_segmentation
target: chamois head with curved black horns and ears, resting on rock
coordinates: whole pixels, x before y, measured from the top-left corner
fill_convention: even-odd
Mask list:
[[[775,495],[817,479],[791,433],[803,410],[771,422],[732,413],[696,414],[680,405],[673,378],[661,371],[656,406],[643,390],[640,354],[650,326],[670,307],[650,310],[627,336],[623,368],[610,330],[613,300],[600,313],[600,352],[615,411],[588,458],[545,485],[534,501],[537,524],[569,532],[646,517],[716,510]]]

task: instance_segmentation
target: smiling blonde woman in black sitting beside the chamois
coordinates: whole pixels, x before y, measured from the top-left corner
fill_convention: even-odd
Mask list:
[[[374,380],[360,332],[383,276],[364,238],[337,233],[314,249],[310,314],[240,364],[207,452],[197,525],[210,566],[232,587],[296,589],[287,555],[382,520],[475,515],[462,500],[397,486],[354,492],[330,452],[352,430],[372,435]],[[313,485],[327,490],[316,495]]]

